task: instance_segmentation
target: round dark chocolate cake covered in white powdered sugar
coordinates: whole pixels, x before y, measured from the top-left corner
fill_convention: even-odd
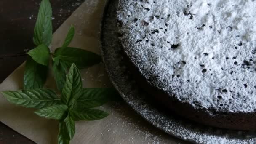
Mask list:
[[[120,0],[120,43],[138,83],[206,125],[256,129],[255,0]]]

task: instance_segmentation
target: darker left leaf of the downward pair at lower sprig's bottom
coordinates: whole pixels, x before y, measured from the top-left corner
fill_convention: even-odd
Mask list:
[[[64,122],[59,122],[58,144],[69,144],[69,133]]]

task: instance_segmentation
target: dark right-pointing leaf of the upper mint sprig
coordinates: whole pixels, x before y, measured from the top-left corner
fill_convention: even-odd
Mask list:
[[[90,67],[101,62],[101,56],[79,48],[57,48],[55,56],[59,59],[76,64],[79,69]]]

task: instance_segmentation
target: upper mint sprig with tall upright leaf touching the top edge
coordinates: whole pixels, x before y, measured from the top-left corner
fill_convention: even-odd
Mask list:
[[[63,80],[61,81],[61,78],[64,78],[64,73],[68,71],[72,63],[76,64],[80,69],[83,69],[101,62],[101,56],[95,53],[80,48],[68,47],[75,35],[74,26],[70,27],[62,47],[57,48],[54,53],[51,53],[48,48],[52,40],[51,17],[51,3],[49,0],[42,0],[34,29],[33,40],[36,47],[27,53],[29,59],[26,62],[24,72],[25,89],[43,88],[48,74],[46,67],[48,67],[50,59],[53,59],[54,77],[60,91],[63,88]],[[40,75],[38,75],[37,72],[40,73]],[[59,77],[58,75],[61,73],[63,74]]]

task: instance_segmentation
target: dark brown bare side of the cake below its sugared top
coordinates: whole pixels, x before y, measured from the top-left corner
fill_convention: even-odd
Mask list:
[[[139,69],[125,55],[125,63],[133,73],[133,77],[141,88],[146,91],[153,101],[157,101],[160,107],[168,108],[171,112],[176,113],[184,118],[193,120],[204,125],[211,125],[219,128],[233,130],[255,130],[256,129],[256,112],[255,113],[232,113],[216,112],[212,109],[195,109],[192,105],[176,99],[175,96],[169,96],[164,91],[149,84],[145,77],[141,75]],[[169,112],[170,113],[170,112]]]

